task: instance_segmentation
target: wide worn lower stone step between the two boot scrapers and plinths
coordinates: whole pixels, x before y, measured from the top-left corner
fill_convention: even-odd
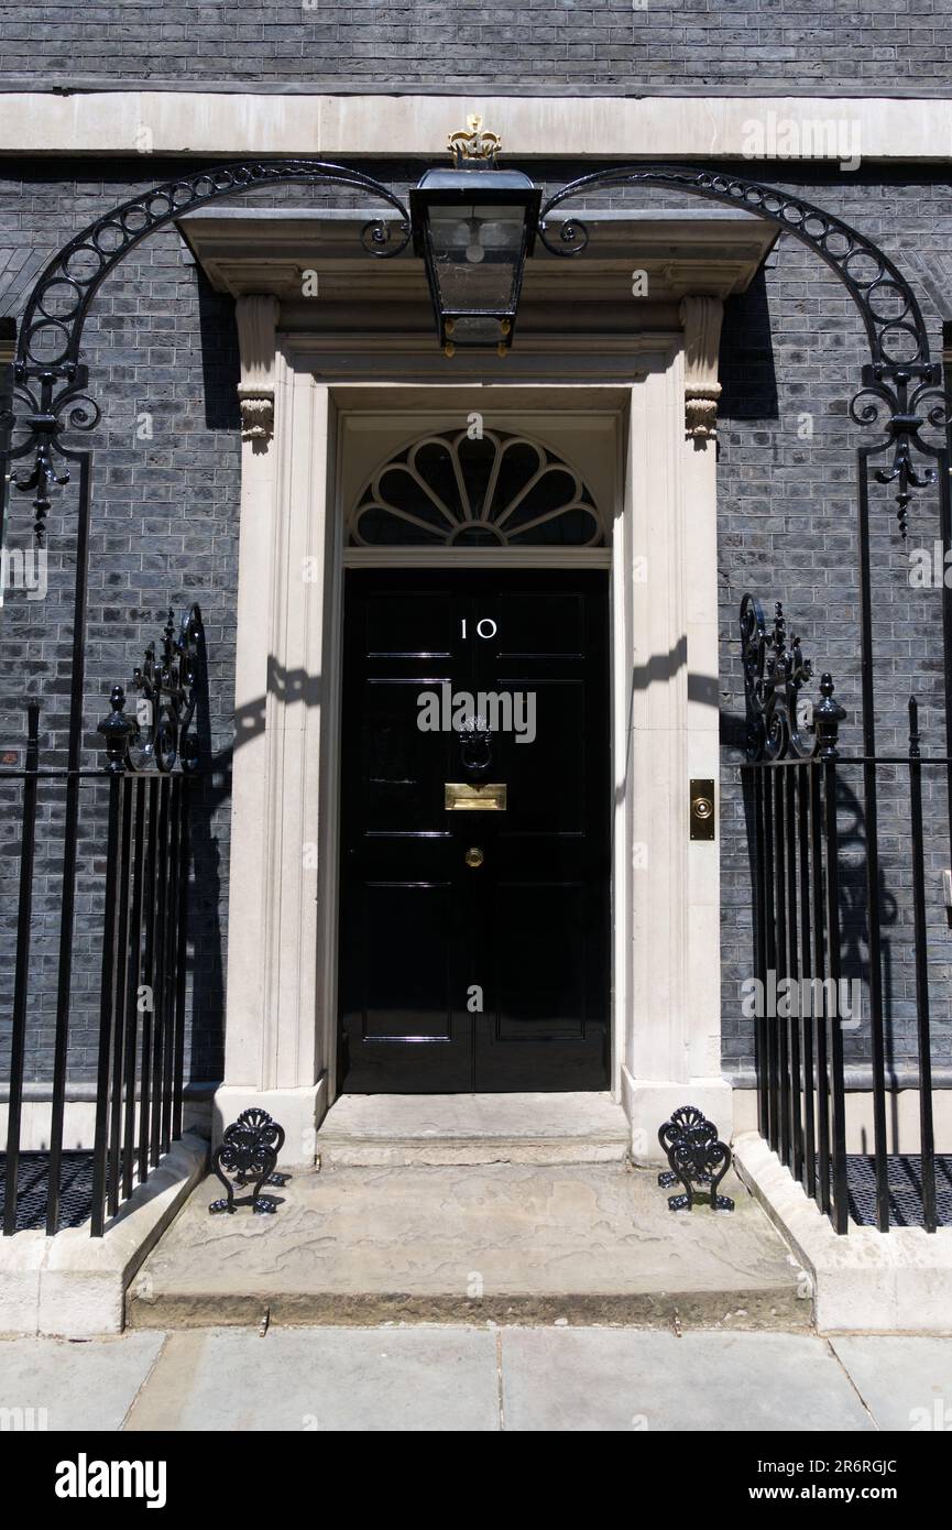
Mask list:
[[[329,1169],[295,1175],[272,1216],[211,1216],[208,1180],[127,1320],[808,1327],[785,1244],[739,1181],[722,1189],[735,1213],[672,1213],[657,1174],[608,1164]]]

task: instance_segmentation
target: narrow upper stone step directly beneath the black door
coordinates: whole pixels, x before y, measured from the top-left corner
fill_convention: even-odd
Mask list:
[[[623,1163],[631,1125],[609,1094],[344,1094],[317,1134],[326,1167]]]

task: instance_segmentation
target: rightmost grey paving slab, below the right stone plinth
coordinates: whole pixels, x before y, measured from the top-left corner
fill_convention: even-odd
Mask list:
[[[952,1431],[952,1339],[831,1339],[880,1429]]]

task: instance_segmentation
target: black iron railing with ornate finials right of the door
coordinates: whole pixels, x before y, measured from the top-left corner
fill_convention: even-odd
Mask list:
[[[751,998],[759,1129],[839,1233],[848,1230],[851,1215],[865,1219],[859,1207],[869,1200],[871,1177],[880,1230],[915,1221],[935,1232],[949,1218],[950,1161],[937,1158],[934,1132],[929,985],[935,936],[926,900],[923,776],[941,786],[949,760],[923,759],[915,699],[909,701],[908,753],[840,754],[845,713],[830,675],[822,676],[811,725],[800,715],[800,688],[811,667],[799,640],[787,641],[782,607],[778,604],[768,630],[758,601],[745,595],[741,638],[750,730],[750,757],[741,771],[755,874]],[[905,1152],[901,1160],[891,1152],[888,1134],[895,1083],[886,1033],[882,846],[868,815],[862,834],[843,837],[845,815],[856,817],[851,805],[865,803],[868,814],[885,786],[897,809],[894,822],[905,815],[905,834],[897,831],[895,838],[898,845],[901,837],[906,909],[901,920],[894,910],[891,921],[909,930],[915,1001],[906,1082],[914,1080],[918,1089],[918,1154]],[[857,897],[848,895],[853,892]],[[865,1019],[862,994],[868,994]],[[851,1063],[868,1080],[871,1155],[848,1151],[848,1036],[856,1036]],[[909,1192],[918,1198],[912,1212]]]

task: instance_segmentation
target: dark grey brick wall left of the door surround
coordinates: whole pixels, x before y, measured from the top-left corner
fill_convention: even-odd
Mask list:
[[[156,164],[156,179],[171,167]],[[141,185],[142,167],[101,164],[0,165],[0,304],[18,315],[41,260],[84,223]],[[152,177],[150,177],[152,181]],[[150,184],[150,182],[148,182]],[[87,719],[83,765],[103,760],[96,722],[116,681],[129,685],[165,610],[202,606],[210,658],[214,774],[196,814],[193,906],[194,1047],[188,1077],[222,1068],[222,993],[228,872],[228,780],[234,685],[234,591],[240,442],[234,384],[237,346],[233,304],[220,300],[182,259],[174,231],[133,251],[99,292],[84,332],[90,396],[103,409],[93,445],[93,514],[89,558]],[[150,418],[152,436],[139,430]],[[6,594],[0,623],[0,753],[20,751],[23,702],[41,702],[41,762],[66,762],[72,600],[75,572],[73,483],[55,493],[49,517],[49,594],[29,601]],[[11,494],[11,546],[31,545],[31,497]],[[0,1004],[9,1013],[11,935],[15,926],[18,793],[5,786],[0,840]],[[95,1027],[104,869],[103,794],[81,791],[81,858],[73,942],[70,1074],[89,1073]],[[63,793],[41,791],[34,904],[31,1047],[28,1077],[49,1077],[55,1014],[55,962],[61,880]]]

